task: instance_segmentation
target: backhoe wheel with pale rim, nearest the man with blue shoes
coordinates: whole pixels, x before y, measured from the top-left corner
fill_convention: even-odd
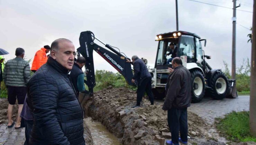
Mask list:
[[[204,77],[201,71],[194,70],[191,72],[192,78],[192,103],[198,103],[202,100],[204,96]]]

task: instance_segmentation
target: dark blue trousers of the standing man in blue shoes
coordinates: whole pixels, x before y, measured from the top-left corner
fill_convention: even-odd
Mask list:
[[[183,109],[171,108],[167,113],[168,126],[172,134],[172,142],[179,144],[179,131],[181,140],[188,142],[188,112]]]

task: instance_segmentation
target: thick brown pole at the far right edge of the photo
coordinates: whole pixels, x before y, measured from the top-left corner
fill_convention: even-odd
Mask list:
[[[251,84],[250,84],[250,134],[256,137],[256,0],[253,1],[253,35],[251,57]]]

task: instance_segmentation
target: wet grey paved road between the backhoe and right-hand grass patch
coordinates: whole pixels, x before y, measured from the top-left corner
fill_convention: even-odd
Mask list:
[[[191,112],[200,117],[214,122],[214,118],[223,117],[225,114],[233,110],[243,111],[249,110],[250,96],[239,96],[238,98],[225,98],[223,100],[213,100],[210,97],[204,97],[200,103],[192,103],[188,108]]]

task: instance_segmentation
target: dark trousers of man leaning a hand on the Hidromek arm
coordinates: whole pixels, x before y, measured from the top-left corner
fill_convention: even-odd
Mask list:
[[[142,100],[142,97],[144,96],[145,91],[148,95],[148,99],[153,104],[154,97],[153,97],[152,88],[151,88],[151,77],[147,77],[144,80],[142,80],[141,83],[139,83],[138,89],[137,89],[137,105],[140,105],[140,101]]]

